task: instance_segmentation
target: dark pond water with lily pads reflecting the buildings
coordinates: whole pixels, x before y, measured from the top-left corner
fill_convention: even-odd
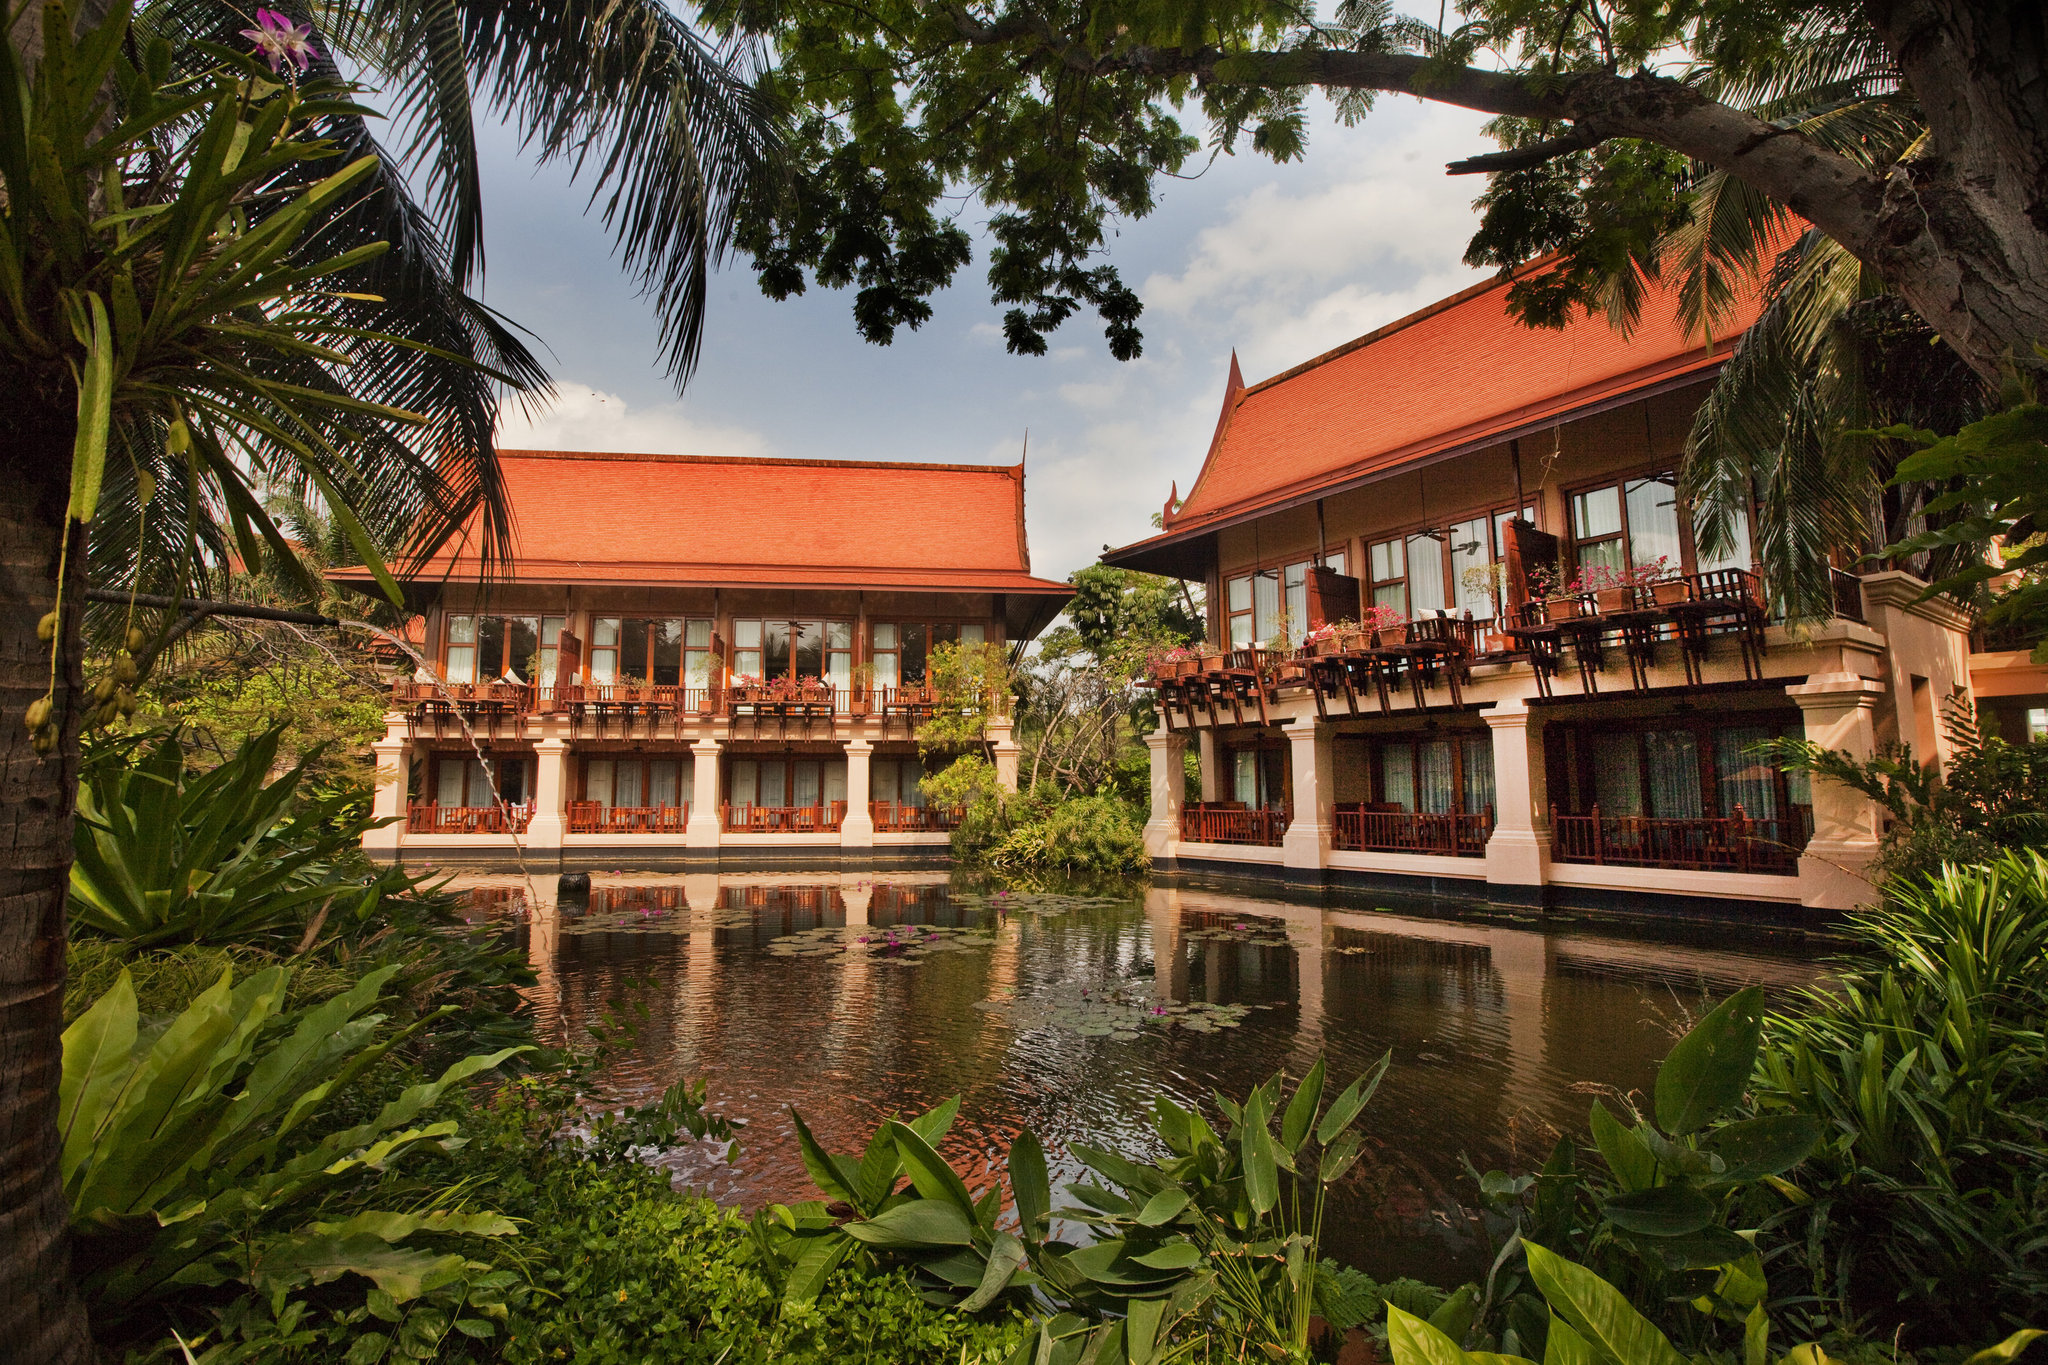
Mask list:
[[[524,898],[479,900],[489,915]],[[705,1076],[748,1119],[737,1164],[670,1158],[743,1207],[815,1197],[791,1105],[829,1150],[858,1152],[887,1113],[963,1095],[946,1156],[979,1187],[1024,1126],[1055,1158],[1075,1140],[1143,1154],[1157,1095],[1214,1117],[1212,1091],[1239,1097],[1319,1052],[1335,1089],[1391,1048],[1327,1240],[1368,1271],[1438,1279],[1479,1269],[1460,1158],[1532,1169],[1559,1130],[1583,1132],[1595,1089],[1645,1087],[1706,1001],[1812,976],[1804,939],[1747,927],[1317,911],[1194,888],[1044,905],[829,874],[600,878],[588,911],[543,913],[522,935],[551,1042],[635,999],[647,1019],[616,1093]],[[1202,1003],[1249,1009],[1184,1009]]]

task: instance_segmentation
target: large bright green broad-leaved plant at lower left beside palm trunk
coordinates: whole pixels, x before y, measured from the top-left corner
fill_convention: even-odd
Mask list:
[[[408,1033],[453,1013],[385,1029],[373,1011],[395,972],[295,1013],[283,1013],[289,968],[240,984],[221,972],[166,1021],[137,1015],[123,972],[66,1029],[63,1191],[102,1330],[164,1295],[227,1283],[283,1300],[354,1275],[408,1302],[471,1269],[451,1244],[514,1230],[461,1191],[410,1191],[406,1207],[379,1207],[377,1185],[457,1136],[453,1119],[426,1117],[451,1087],[522,1048],[463,1058],[367,1121],[332,1126],[338,1097]]]

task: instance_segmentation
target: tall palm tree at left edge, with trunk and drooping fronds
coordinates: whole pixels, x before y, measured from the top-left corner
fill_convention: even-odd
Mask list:
[[[223,57],[250,23],[223,14],[20,0],[0,49],[0,1340],[20,1359],[90,1357],[57,1179],[63,888],[80,729],[123,708],[147,643],[117,634],[88,692],[88,565],[172,587],[229,551],[289,569],[264,501],[317,497],[395,596],[379,540],[422,557],[473,528],[502,553],[496,405],[545,387],[463,289],[473,186],[414,203],[322,65],[342,43],[264,18],[270,65]],[[406,12],[328,18],[377,14]],[[362,70],[399,108],[434,82],[422,156],[467,127],[451,80],[494,82],[528,145],[606,196],[684,375],[766,111],[651,0],[473,6],[455,31],[461,70],[395,45]]]

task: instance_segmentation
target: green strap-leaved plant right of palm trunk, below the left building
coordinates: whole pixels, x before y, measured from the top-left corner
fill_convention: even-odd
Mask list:
[[[354,792],[305,790],[307,755],[272,778],[276,724],[221,765],[186,765],[178,731],[102,743],[78,784],[70,917],[133,948],[297,939],[324,909],[362,923],[414,886],[352,864],[381,821]]]

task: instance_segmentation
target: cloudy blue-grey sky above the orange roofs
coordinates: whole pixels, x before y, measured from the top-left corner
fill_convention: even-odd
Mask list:
[[[1014,463],[1030,432],[1032,569],[1065,577],[1106,542],[1147,534],[1171,479],[1188,491],[1233,346],[1255,383],[1479,278],[1458,256],[1481,182],[1448,178],[1444,162],[1489,145],[1481,117],[1389,96],[1346,129],[1323,111],[1305,162],[1221,158],[1122,225],[1112,260],[1145,301],[1141,360],[1114,360],[1085,317],[1047,356],[1008,354],[977,241],[932,321],[893,346],[860,340],[848,295],[772,303],[750,270],[729,268],[682,395],[584,194],[500,139],[485,178],[485,299],[541,338],[559,381],[551,411],[506,415],[502,442]]]

